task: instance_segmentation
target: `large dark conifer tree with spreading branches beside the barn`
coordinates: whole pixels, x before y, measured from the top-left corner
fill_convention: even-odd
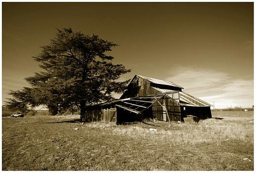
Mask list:
[[[47,105],[53,114],[77,106],[80,119],[86,121],[89,106],[113,100],[112,93],[122,93],[128,82],[116,79],[131,70],[112,64],[113,57],[106,54],[115,46],[96,35],[57,29],[51,43],[34,57],[43,71],[26,78],[36,102]]]

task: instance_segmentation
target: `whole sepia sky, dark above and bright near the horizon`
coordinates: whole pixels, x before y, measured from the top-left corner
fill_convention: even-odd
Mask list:
[[[120,80],[173,81],[215,108],[253,105],[253,3],[3,3],[2,104],[68,27],[119,45],[113,63],[132,69]]]

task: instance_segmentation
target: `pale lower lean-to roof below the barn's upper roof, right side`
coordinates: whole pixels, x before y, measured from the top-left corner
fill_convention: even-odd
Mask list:
[[[160,89],[160,88],[156,88],[156,87],[152,87],[152,88],[161,93],[174,92],[173,90]],[[187,93],[179,92],[179,95],[180,95],[180,105],[182,105],[182,106],[195,106],[195,107],[212,106],[211,104],[208,104],[208,103],[206,103],[196,97],[193,97]]]

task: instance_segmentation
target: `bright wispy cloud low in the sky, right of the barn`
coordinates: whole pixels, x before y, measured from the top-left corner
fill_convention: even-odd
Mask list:
[[[253,80],[232,78],[211,69],[178,68],[166,80],[184,87],[184,92],[198,97],[216,108],[253,105]]]

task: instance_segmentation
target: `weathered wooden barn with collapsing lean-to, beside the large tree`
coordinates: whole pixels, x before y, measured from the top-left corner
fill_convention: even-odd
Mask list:
[[[119,100],[92,107],[87,114],[92,121],[117,124],[151,118],[183,122],[188,115],[211,118],[211,105],[182,89],[170,81],[135,75]]]

